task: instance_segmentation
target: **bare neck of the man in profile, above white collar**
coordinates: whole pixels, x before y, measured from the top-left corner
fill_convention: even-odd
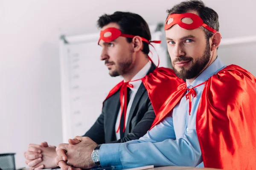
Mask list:
[[[124,78],[125,82],[131,81],[131,79],[148,63],[148,58],[145,56],[145,54],[140,54],[135,56],[134,62],[132,63],[131,69],[125,73],[122,74],[122,77]]]

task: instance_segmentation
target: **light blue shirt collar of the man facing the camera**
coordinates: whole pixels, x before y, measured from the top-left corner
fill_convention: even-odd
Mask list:
[[[195,87],[196,85],[199,85],[205,82],[207,79],[212,77],[212,75],[217,74],[218,71],[220,71],[224,67],[225,65],[223,64],[221,59],[217,57],[214,60],[214,62],[212,62],[211,65],[209,65],[201,74],[199,74],[199,76],[191,84],[189,84],[189,82],[186,80],[187,88],[192,88],[192,87]],[[203,90],[204,86],[198,86],[198,88]]]

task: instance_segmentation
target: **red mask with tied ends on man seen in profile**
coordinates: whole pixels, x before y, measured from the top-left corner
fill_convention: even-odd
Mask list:
[[[111,42],[113,40],[116,40],[116,38],[118,37],[127,37],[127,38],[133,38],[136,35],[131,35],[131,34],[122,34],[122,32],[117,29],[117,28],[106,28],[103,31],[100,31],[100,37],[99,37],[99,41],[103,40],[105,42]],[[143,37],[140,37],[142,41],[147,42],[148,44],[150,44],[150,42],[154,42],[154,43],[161,43],[161,41],[148,41]],[[98,41],[98,45],[99,45],[99,41]]]

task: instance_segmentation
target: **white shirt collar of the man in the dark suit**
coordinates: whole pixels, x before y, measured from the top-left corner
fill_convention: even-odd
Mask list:
[[[147,75],[150,67],[151,67],[151,62],[148,61],[147,64],[144,65],[144,67],[131,79],[131,81],[141,79],[141,78],[145,77]],[[137,91],[140,87],[141,82],[142,82],[141,80],[134,81],[134,82],[129,82],[129,84],[134,86],[133,88],[131,88],[131,90],[132,91]]]

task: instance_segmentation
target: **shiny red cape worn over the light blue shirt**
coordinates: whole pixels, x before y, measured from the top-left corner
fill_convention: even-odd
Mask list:
[[[184,93],[186,84],[169,96],[152,127],[170,113]],[[198,107],[196,130],[205,167],[256,169],[256,78],[237,65],[210,77]]]

